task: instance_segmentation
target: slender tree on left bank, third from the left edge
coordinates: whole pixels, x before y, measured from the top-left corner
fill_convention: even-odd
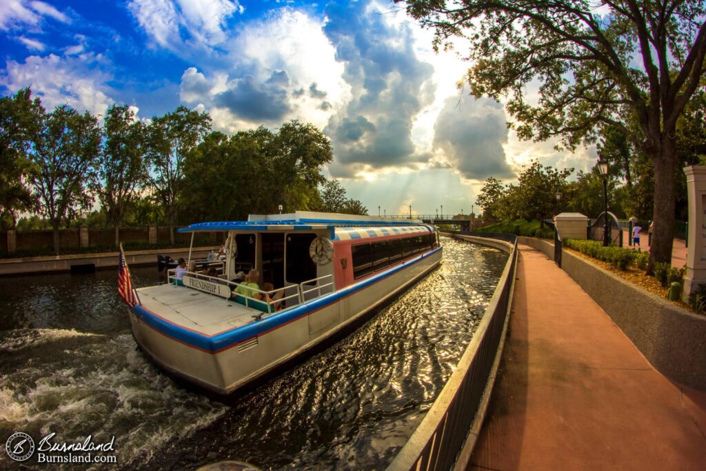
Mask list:
[[[102,181],[98,196],[107,219],[115,228],[115,245],[118,246],[121,222],[147,181],[144,162],[147,136],[145,125],[136,120],[130,107],[115,105],[108,109],[104,133],[105,143],[98,162]]]

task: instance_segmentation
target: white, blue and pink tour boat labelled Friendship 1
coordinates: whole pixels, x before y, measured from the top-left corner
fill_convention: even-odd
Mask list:
[[[442,253],[436,227],[402,218],[297,211],[179,232],[191,232],[192,246],[194,234],[219,232],[225,254],[203,271],[170,269],[167,283],[136,290],[133,337],[163,369],[222,394],[360,320],[438,266]],[[237,280],[252,269],[257,288]]]

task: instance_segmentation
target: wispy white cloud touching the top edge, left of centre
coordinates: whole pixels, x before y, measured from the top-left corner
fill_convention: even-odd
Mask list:
[[[227,20],[244,8],[233,0],[131,0],[128,11],[155,47],[190,54],[225,41]]]

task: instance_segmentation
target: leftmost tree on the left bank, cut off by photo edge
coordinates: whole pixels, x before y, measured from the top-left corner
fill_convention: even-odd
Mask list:
[[[0,217],[17,224],[17,213],[32,207],[32,193],[25,184],[30,171],[30,136],[37,132],[43,112],[29,88],[12,97],[0,97]]]

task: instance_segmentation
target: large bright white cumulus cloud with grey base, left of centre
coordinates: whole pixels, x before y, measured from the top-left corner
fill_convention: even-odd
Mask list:
[[[288,7],[244,25],[222,45],[228,54],[184,72],[181,100],[203,105],[213,128],[225,132],[288,119],[323,128],[349,88],[322,27],[323,20]]]

